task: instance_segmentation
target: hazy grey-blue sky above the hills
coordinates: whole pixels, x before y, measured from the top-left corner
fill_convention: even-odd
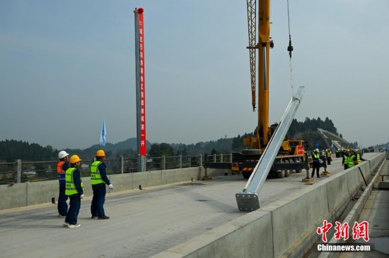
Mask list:
[[[146,139],[251,133],[246,1],[0,0],[0,140],[55,149],[137,137],[134,8],[144,8]],[[389,1],[289,0],[295,118],[389,142]],[[291,97],[287,1],[272,1],[269,123]]]

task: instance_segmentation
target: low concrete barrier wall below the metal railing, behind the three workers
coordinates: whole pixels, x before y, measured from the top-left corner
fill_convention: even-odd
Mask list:
[[[221,176],[223,170],[209,169],[208,176]],[[115,192],[135,190],[145,187],[167,185],[191,180],[200,180],[204,176],[204,168],[178,168],[164,171],[146,171],[110,175]],[[82,178],[84,195],[92,196],[91,178]],[[58,199],[58,181],[41,181],[13,185],[0,185],[0,210],[26,207],[35,204],[51,203],[52,198]]]

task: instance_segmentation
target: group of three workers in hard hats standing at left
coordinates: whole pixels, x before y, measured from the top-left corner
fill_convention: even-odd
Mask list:
[[[59,197],[58,197],[58,216],[65,218],[64,226],[68,228],[79,228],[77,217],[81,208],[81,199],[83,199],[83,182],[79,166],[81,159],[73,155],[68,159],[69,154],[65,151],[58,153],[59,162],[57,164],[57,174],[59,180]],[[107,176],[107,166],[104,163],[105,152],[99,149],[95,154],[95,161],[91,165],[91,185],[93,198],[91,203],[92,219],[110,219],[105,215],[105,185],[113,189],[113,185]],[[70,199],[69,209],[66,203]]]

